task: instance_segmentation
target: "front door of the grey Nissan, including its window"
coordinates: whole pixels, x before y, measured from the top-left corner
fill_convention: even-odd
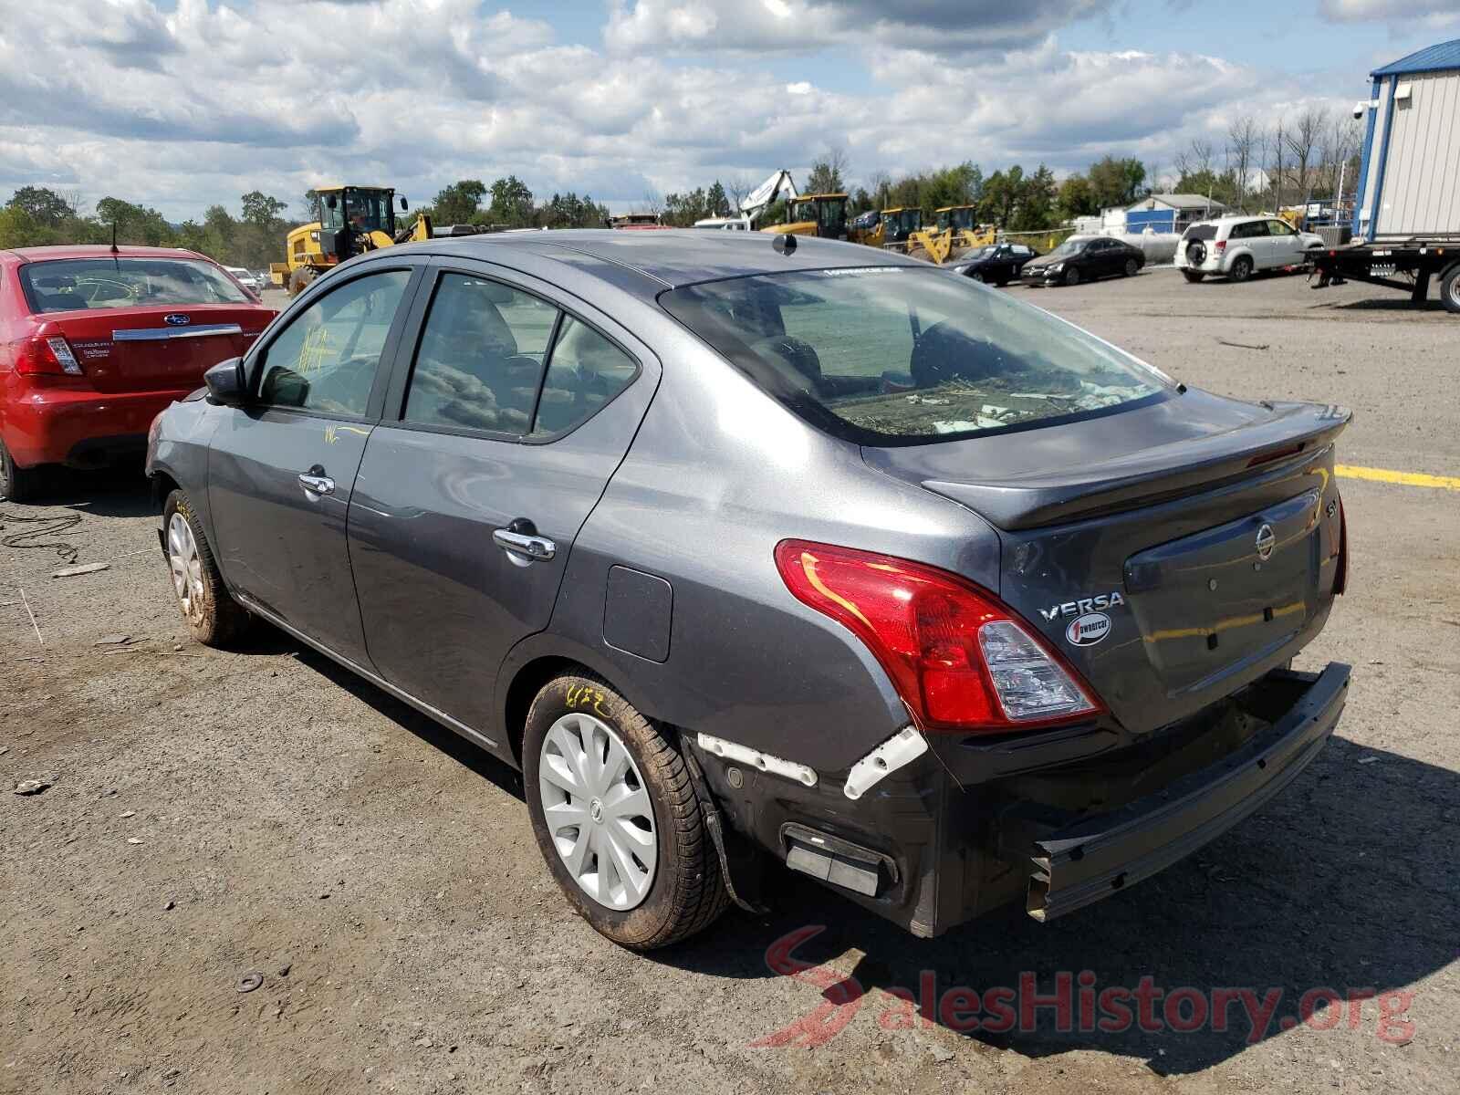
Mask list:
[[[377,263],[301,298],[250,361],[254,402],[213,434],[223,574],[260,606],[368,664],[345,523],[425,260]]]

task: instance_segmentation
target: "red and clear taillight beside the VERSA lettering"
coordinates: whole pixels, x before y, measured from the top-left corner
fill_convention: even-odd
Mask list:
[[[802,540],[777,545],[775,565],[867,645],[923,730],[1006,733],[1101,710],[1006,604],[948,571]]]

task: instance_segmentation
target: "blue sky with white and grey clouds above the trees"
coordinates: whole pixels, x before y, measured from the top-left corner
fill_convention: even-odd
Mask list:
[[[515,174],[613,209],[721,178],[972,159],[1162,172],[1232,117],[1349,107],[1457,0],[0,0],[0,200],[181,220],[330,180]]]

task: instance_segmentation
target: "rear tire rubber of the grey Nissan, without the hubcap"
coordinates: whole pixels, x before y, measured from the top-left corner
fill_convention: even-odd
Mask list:
[[[648,894],[618,911],[588,896],[568,873],[543,816],[539,768],[553,723],[574,711],[591,714],[623,742],[642,775],[654,810],[657,864]],[[533,699],[523,733],[523,784],[537,848],[568,904],[603,936],[634,950],[677,943],[710,927],[730,895],[720,858],[689,781],[683,758],[664,727],[641,715],[603,679],[584,673],[553,677]]]

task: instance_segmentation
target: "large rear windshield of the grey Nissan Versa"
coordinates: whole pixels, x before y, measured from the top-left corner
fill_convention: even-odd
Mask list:
[[[1051,425],[1171,387],[1077,327],[934,269],[756,274],[660,301],[765,391],[858,444]]]

